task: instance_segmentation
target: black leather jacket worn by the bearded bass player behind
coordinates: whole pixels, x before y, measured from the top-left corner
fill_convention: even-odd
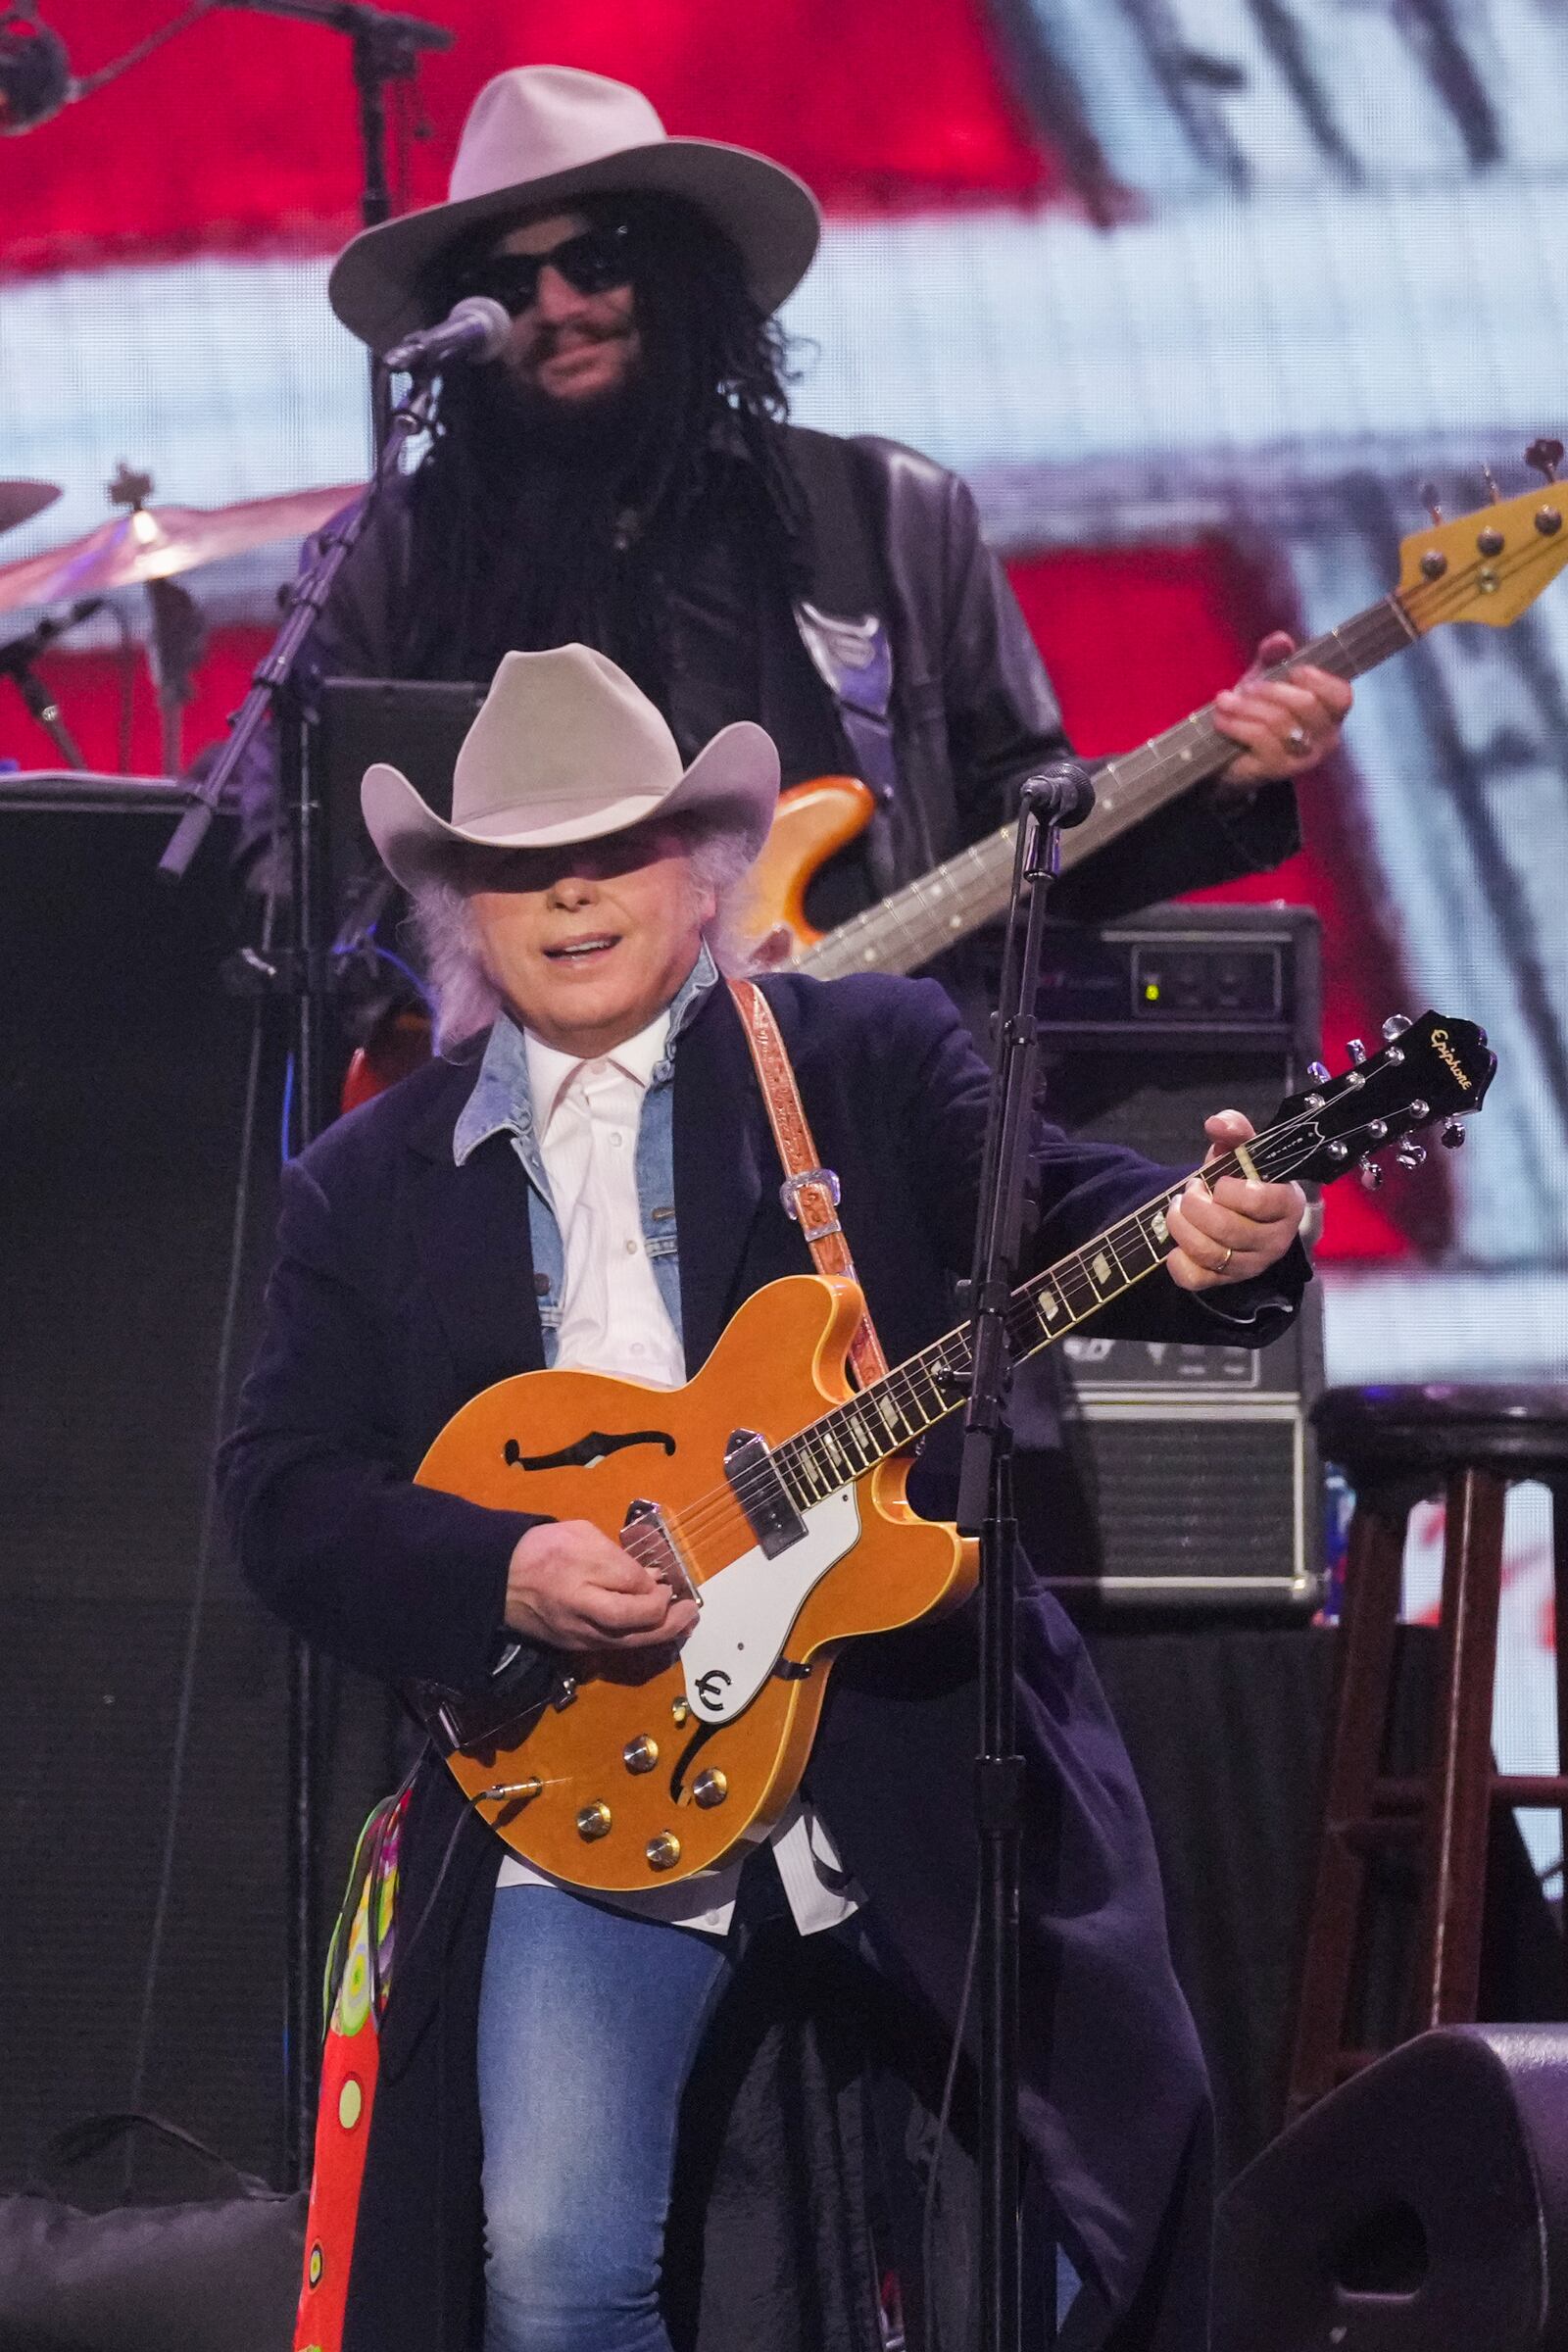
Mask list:
[[[867,574],[893,647],[896,821],[879,866],[910,882],[1011,814],[1020,781],[1067,750],[1063,717],[1006,574],[980,536],[966,485],[898,442],[842,442],[785,428],[806,503],[853,482]],[[409,579],[409,489],[397,485],[348,557],[313,633],[320,675],[395,677]],[[832,604],[832,600],[816,597]],[[755,717],[785,743],[799,666],[762,661]],[[825,691],[825,689],[823,689]],[[853,767],[849,748],[844,767]],[[240,771],[240,861],[256,870],[277,814],[275,750],[263,734]],[[1079,922],[1276,866],[1298,847],[1288,783],[1251,800],[1197,788],[1058,884],[1053,910]]]

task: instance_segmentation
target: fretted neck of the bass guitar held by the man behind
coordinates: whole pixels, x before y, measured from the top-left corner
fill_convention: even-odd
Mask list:
[[[1413,644],[1420,630],[1406,616],[1396,595],[1380,597],[1352,621],[1314,637],[1265,677],[1288,677],[1312,663],[1335,677],[1361,677],[1389,654]],[[1098,849],[1131,833],[1157,809],[1168,807],[1208,776],[1218,776],[1237,757],[1237,746],[1220,734],[1208,703],[1135,750],[1107,760],[1095,771],[1095,807],[1091,816],[1063,835],[1063,873],[1081,866]],[[943,948],[954,948],[983,924],[1006,913],[1013,889],[1013,826],[1001,826],[971,849],[959,849],[929,875],[907,882],[879,906],[865,908],[827,931],[813,948],[795,957],[792,971],[818,981],[837,981],[849,971],[917,971]]]

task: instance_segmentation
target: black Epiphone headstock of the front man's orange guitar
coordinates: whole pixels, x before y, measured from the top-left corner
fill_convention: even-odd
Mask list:
[[[1436,1120],[1446,1122],[1443,1143],[1465,1141],[1462,1120],[1481,1108],[1497,1068],[1486,1030],[1443,1014],[1394,1014],[1382,1035],[1387,1044],[1371,1058],[1352,1044],[1352,1065],[1338,1077],[1314,1063],[1314,1084],[1288,1096],[1274,1124],[1248,1143],[1265,1181],[1333,1183],[1359,1162],[1363,1183],[1375,1185],[1375,1155],[1389,1143],[1401,1167],[1418,1167],[1427,1155],[1415,1136]]]

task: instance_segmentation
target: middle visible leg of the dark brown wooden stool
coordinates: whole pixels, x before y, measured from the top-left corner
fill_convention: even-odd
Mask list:
[[[1481,1983],[1481,1900],[1493,1799],[1493,1677],[1502,1597],[1507,1479],[1448,1479],[1439,1722],[1427,1766],[1422,1912],[1415,1959],[1418,2030],[1467,2025]]]

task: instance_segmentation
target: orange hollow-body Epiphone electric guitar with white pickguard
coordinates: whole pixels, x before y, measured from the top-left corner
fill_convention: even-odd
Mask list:
[[[1291,1096],[1227,1174],[1328,1183],[1354,1162],[1476,1110],[1495,1058],[1469,1021],[1385,1025],[1371,1061]],[[1016,1352],[1053,1345],[1171,1251],[1164,1192],[1025,1282]],[[416,1691],[482,1818],[538,1870],[630,1891],[712,1870],[762,1839],[795,1795],[846,1642],[947,1609],[976,1545],[905,1501],[910,1449],[952,1414],[971,1369],[954,1329],[860,1392],[846,1352],[849,1279],[790,1275],[757,1291],[686,1388],[534,1371],[487,1388],[418,1468],[425,1486],[503,1510],[592,1519],[701,1604],[679,1651],[562,1653],[543,1698],[508,1712]],[[738,1428],[745,1416],[745,1428]]]

